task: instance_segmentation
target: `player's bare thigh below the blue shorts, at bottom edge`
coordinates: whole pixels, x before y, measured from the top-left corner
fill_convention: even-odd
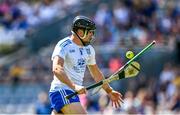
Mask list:
[[[64,114],[87,114],[86,110],[82,107],[80,102],[70,103],[64,106],[61,111]]]

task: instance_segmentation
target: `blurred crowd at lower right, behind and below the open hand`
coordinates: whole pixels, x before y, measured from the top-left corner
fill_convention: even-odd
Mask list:
[[[180,67],[167,62],[160,76],[138,76],[128,80],[124,103],[114,109],[104,91],[100,91],[94,100],[90,95],[82,98],[84,106],[90,111],[102,114],[179,114],[180,112]],[[119,84],[119,85],[118,85]],[[125,87],[118,83],[114,88]],[[92,106],[93,105],[93,106]]]

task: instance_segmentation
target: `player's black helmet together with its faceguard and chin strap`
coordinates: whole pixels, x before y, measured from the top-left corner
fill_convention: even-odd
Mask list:
[[[83,37],[80,37],[77,34],[78,29],[82,29],[84,31],[84,36]],[[87,45],[89,45],[91,43],[92,39],[94,39],[94,35],[91,38],[89,43],[84,43],[82,39],[86,38],[89,31],[93,31],[93,33],[95,33],[95,30],[96,30],[95,23],[91,19],[89,19],[88,17],[77,16],[77,17],[74,18],[73,24],[72,24],[72,33],[77,35],[77,37],[80,39],[80,41],[82,42],[82,44],[84,46],[87,46]]]

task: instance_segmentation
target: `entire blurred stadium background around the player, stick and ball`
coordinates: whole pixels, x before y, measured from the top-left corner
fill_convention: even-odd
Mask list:
[[[180,113],[179,0],[0,0],[0,113],[49,114],[51,55],[71,34],[77,15],[97,25],[97,64],[106,77],[147,44],[157,44],[137,61],[140,74],[111,83],[123,94],[119,109],[100,91],[81,95],[89,113]],[[89,71],[84,85],[94,83]]]

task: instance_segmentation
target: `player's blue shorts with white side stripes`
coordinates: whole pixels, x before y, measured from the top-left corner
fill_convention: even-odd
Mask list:
[[[56,112],[60,112],[65,105],[74,102],[80,102],[80,99],[77,95],[73,96],[70,99],[65,98],[66,95],[69,95],[71,93],[73,93],[73,91],[68,89],[60,89],[59,91],[49,92],[51,109],[55,109]]]

